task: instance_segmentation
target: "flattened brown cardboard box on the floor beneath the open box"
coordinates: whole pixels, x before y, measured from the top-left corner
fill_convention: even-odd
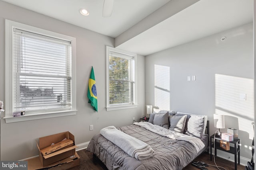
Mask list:
[[[28,170],[67,170],[80,165],[80,157],[77,153],[48,166],[42,166],[39,157],[28,159],[27,161]]]

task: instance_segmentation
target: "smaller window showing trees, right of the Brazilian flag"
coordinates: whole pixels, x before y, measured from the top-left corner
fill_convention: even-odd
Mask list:
[[[106,47],[107,110],[137,107],[134,53]]]

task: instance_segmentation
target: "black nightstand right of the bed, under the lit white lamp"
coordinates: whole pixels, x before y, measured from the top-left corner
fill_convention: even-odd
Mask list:
[[[213,139],[213,141],[212,141]],[[220,147],[220,143],[216,141],[225,141],[221,139],[221,136],[218,134],[215,135],[215,141],[214,141],[214,134],[210,137],[210,160],[212,160],[212,148],[214,147],[215,142],[215,150],[214,150],[214,156],[217,156],[217,149],[222,150],[224,152],[229,152],[234,154],[235,158],[235,170],[237,170],[237,156],[238,156],[238,164],[240,164],[240,139],[235,139],[234,141],[227,141],[229,143],[233,143],[234,147],[230,146],[230,150],[225,150]]]

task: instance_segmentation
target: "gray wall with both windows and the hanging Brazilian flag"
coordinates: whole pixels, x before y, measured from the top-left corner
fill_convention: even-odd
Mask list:
[[[70,131],[76,144],[90,141],[103,127],[132,124],[145,115],[144,56],[138,56],[138,108],[106,111],[106,45],[114,47],[114,39],[0,1],[0,100],[5,103],[5,19],[62,33],[76,38],[76,106],[72,116],[5,123],[1,115],[1,160],[21,160],[38,155],[36,139]],[[91,67],[94,67],[98,94],[98,113],[88,104],[87,89]],[[89,131],[89,125],[94,130]]]

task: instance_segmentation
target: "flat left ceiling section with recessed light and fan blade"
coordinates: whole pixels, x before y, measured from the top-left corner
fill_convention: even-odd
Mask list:
[[[114,0],[112,15],[108,18],[102,17],[104,0],[3,1],[115,38],[169,0]],[[81,15],[81,8],[90,14]]]

